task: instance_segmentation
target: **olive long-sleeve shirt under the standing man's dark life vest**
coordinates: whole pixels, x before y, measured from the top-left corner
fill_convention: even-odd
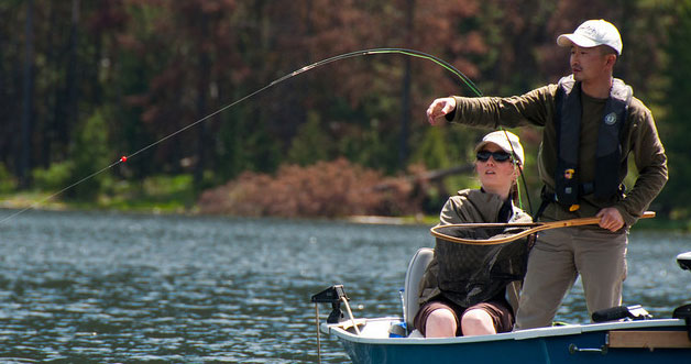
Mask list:
[[[498,98],[454,97],[456,110],[449,114],[452,122],[472,126],[507,128],[537,125],[542,126],[542,143],[538,152],[538,172],[549,191],[555,190],[555,169],[557,167],[557,131],[555,125],[558,85],[540,87],[522,96]],[[580,180],[594,180],[595,152],[597,148],[599,123],[602,120],[606,99],[595,99],[581,93],[583,108],[579,145]],[[549,203],[542,219],[563,220],[592,217],[602,208],[615,207],[624,218],[625,230],[630,228],[650,202],[660,192],[668,179],[667,156],[660,142],[650,110],[633,98],[622,130],[622,159],[619,173],[627,173],[627,161],[633,154],[638,169],[638,178],[633,188],[623,195],[612,196],[608,200],[595,200],[592,195],[580,198],[581,208],[570,212],[559,203]],[[596,229],[596,227],[584,227]]]

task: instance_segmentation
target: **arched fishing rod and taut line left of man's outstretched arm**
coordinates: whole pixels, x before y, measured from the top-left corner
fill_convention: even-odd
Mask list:
[[[229,104],[227,104],[227,106],[224,106],[224,107],[222,107],[222,108],[220,108],[220,109],[209,113],[208,115],[206,115],[206,117],[204,117],[204,118],[201,118],[201,119],[199,119],[199,120],[197,120],[197,121],[195,121],[195,122],[193,122],[193,123],[190,123],[190,124],[188,124],[188,125],[186,125],[186,126],[184,126],[184,128],[182,128],[182,129],[179,129],[179,130],[177,130],[177,131],[175,131],[175,132],[173,132],[173,133],[171,133],[171,134],[168,134],[168,135],[166,135],[166,136],[164,136],[164,137],[162,137],[162,139],[160,139],[157,141],[155,141],[155,142],[153,142],[153,143],[151,143],[151,144],[149,144],[146,146],[144,146],[141,150],[139,150],[139,151],[136,151],[136,152],[134,152],[132,154],[129,154],[129,155],[123,155],[122,157],[120,157],[120,159],[118,159],[117,162],[110,164],[109,166],[107,166],[107,167],[105,167],[105,168],[102,168],[102,169],[100,169],[98,172],[95,172],[95,173],[92,173],[92,174],[90,174],[90,175],[88,175],[88,176],[77,180],[76,183],[74,183],[74,184],[72,184],[72,185],[61,189],[59,191],[57,191],[57,192],[55,192],[55,194],[53,194],[53,195],[51,195],[51,196],[48,196],[48,197],[37,201],[37,202],[34,202],[31,206],[29,206],[29,207],[26,207],[26,208],[24,208],[22,210],[19,210],[18,212],[14,212],[14,213],[10,214],[9,217],[3,218],[2,220],[0,220],[0,224],[2,224],[6,221],[17,217],[18,214],[21,214],[21,213],[23,213],[23,212],[25,212],[28,210],[34,209],[34,208],[45,203],[50,199],[52,199],[52,198],[54,198],[54,197],[56,197],[56,196],[58,196],[61,194],[64,194],[66,190],[68,190],[70,188],[73,188],[73,187],[84,183],[85,180],[94,178],[97,175],[99,175],[99,174],[101,174],[101,173],[103,173],[103,172],[106,172],[106,170],[108,170],[108,169],[110,169],[110,168],[121,164],[121,163],[125,163],[129,158],[132,158],[132,157],[139,155],[140,153],[143,153],[144,151],[146,151],[146,150],[149,150],[149,148],[151,148],[151,147],[153,147],[153,146],[155,146],[157,144],[161,144],[161,143],[165,142],[166,140],[168,140],[168,139],[171,139],[171,137],[173,137],[173,136],[175,136],[175,135],[177,135],[177,134],[179,134],[179,133],[182,133],[184,131],[187,131],[188,129],[190,129],[190,128],[193,128],[193,126],[195,126],[195,125],[197,125],[197,124],[199,124],[199,123],[201,123],[201,122],[204,122],[204,121],[206,121],[206,120],[208,120],[208,119],[210,119],[210,118],[212,118],[212,117],[215,117],[215,115],[217,115],[217,114],[219,114],[219,113],[221,113],[221,112],[223,112],[223,111],[226,111],[226,110],[228,110],[228,109],[230,109],[232,107],[234,107],[235,104],[238,104],[238,103],[240,103],[242,101],[245,101],[245,100],[256,96],[257,93],[261,93],[264,90],[266,90],[268,88],[272,88],[272,87],[274,87],[274,86],[276,86],[276,85],[278,85],[278,84],[281,84],[281,82],[283,82],[283,81],[285,81],[287,79],[289,79],[289,78],[293,78],[293,77],[295,77],[295,76],[297,76],[299,74],[303,74],[303,73],[308,71],[310,69],[314,69],[314,68],[317,68],[317,67],[320,67],[320,66],[323,66],[323,65],[327,65],[327,64],[330,64],[330,63],[333,63],[333,62],[337,62],[337,60],[347,59],[347,58],[353,58],[353,57],[360,57],[360,56],[375,55],[375,54],[402,54],[402,55],[406,55],[406,56],[412,56],[412,57],[417,57],[417,58],[431,60],[431,62],[436,63],[437,65],[443,67],[448,71],[452,73],[458,78],[460,78],[463,81],[463,84],[465,84],[465,86],[468,86],[468,88],[470,88],[476,96],[482,96],[482,92],[480,92],[480,89],[475,86],[475,84],[473,84],[473,81],[470,78],[468,78],[465,75],[463,75],[463,73],[458,70],[456,67],[453,67],[448,62],[446,62],[443,59],[440,59],[440,58],[438,58],[436,56],[432,56],[430,54],[427,54],[427,53],[423,53],[423,52],[415,51],[415,49],[406,49],[406,48],[371,48],[371,49],[362,49],[362,51],[344,53],[344,54],[341,54],[341,55],[338,55],[338,56],[325,58],[322,60],[312,63],[310,65],[304,66],[303,68],[296,69],[296,70],[294,70],[294,71],[292,71],[292,73],[289,73],[289,74],[287,74],[287,75],[285,75],[283,77],[279,77],[279,78],[273,80],[271,84],[268,84],[268,85],[266,85],[266,86],[264,86],[264,87],[262,87],[262,88],[260,88],[260,89],[257,89],[257,90],[255,90],[255,91],[253,91],[251,93],[248,93],[246,96],[244,96],[244,97],[242,97],[242,98],[240,98],[240,99],[238,99],[238,100],[235,100],[235,101],[233,101],[233,102],[231,102],[231,103],[229,103]]]

